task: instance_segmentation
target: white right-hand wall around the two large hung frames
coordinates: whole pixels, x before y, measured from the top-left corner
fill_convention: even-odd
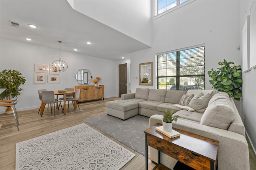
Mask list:
[[[250,8],[253,0],[241,0],[240,4],[240,44],[242,45],[242,29],[246,17],[250,15]],[[255,3],[255,2],[254,2]],[[242,47],[242,46],[241,46]],[[242,47],[244,48],[244,47]],[[242,50],[240,51],[242,56]],[[254,152],[256,153],[256,69],[249,72],[243,72],[243,121],[246,128],[246,133],[249,137],[250,143],[253,145]]]

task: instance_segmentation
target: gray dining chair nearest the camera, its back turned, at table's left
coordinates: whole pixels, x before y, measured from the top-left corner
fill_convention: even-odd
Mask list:
[[[57,106],[58,106],[58,103],[60,103],[61,100],[56,100],[55,99],[54,91],[51,91],[51,90],[42,91],[42,101],[44,102],[44,107],[45,107],[46,104],[51,104],[51,113],[52,113],[52,104],[53,104],[54,117],[55,117],[55,103],[57,103]],[[60,106],[62,108],[61,104],[60,104]],[[60,107],[58,106],[58,109],[59,108]],[[63,111],[63,109],[62,109],[62,111]],[[41,115],[41,117],[42,117],[42,115]]]

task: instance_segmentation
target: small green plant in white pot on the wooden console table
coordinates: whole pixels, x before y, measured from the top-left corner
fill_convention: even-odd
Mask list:
[[[164,109],[164,117],[163,117],[163,130],[167,132],[172,131],[172,121],[177,121],[180,116],[173,115],[174,110]]]

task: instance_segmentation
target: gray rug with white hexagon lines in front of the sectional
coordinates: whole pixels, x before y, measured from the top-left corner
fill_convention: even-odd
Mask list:
[[[145,156],[144,131],[149,127],[149,117],[136,115],[124,121],[105,113],[84,121]]]

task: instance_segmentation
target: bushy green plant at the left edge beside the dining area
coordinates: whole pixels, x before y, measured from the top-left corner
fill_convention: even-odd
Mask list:
[[[6,88],[0,94],[0,100],[11,100],[12,98],[22,94],[20,85],[26,82],[24,76],[18,70],[3,70],[0,72],[0,88]]]

